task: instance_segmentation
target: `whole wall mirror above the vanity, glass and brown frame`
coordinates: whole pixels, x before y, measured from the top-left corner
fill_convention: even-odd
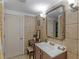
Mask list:
[[[65,38],[65,10],[64,6],[51,9],[46,14],[47,36],[54,39]]]

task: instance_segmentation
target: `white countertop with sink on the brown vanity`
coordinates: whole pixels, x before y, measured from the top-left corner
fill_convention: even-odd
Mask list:
[[[52,58],[66,52],[66,49],[64,51],[59,50],[58,46],[60,45],[58,44],[55,44],[54,46],[52,46],[49,43],[41,42],[41,43],[36,43],[35,45],[39,47],[41,50],[43,50],[45,53],[47,53]]]

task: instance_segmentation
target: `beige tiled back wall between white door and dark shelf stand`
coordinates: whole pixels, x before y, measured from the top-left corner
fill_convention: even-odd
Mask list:
[[[25,26],[24,26],[25,49],[28,46],[28,40],[32,39],[33,34],[35,33],[35,21],[36,17],[25,16]]]

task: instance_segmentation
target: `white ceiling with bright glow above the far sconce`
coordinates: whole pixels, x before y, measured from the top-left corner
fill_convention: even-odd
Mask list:
[[[27,14],[39,15],[52,4],[62,0],[4,0],[5,9],[15,10]]]

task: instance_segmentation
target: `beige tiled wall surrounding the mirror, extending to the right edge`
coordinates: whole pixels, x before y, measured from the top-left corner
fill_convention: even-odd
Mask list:
[[[42,38],[51,40],[58,44],[65,45],[68,51],[68,59],[79,59],[79,10],[71,12],[68,9],[68,4],[65,2],[65,16],[66,16],[66,38],[63,41],[48,38],[46,36],[46,20],[41,20]]]

